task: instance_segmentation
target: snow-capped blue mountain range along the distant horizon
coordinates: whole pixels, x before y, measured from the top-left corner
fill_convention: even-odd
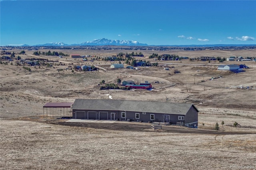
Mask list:
[[[86,46],[86,45],[123,45],[123,46],[173,46],[173,47],[239,47],[239,46],[256,46],[256,44],[208,44],[208,45],[148,45],[146,43],[139,43],[137,41],[129,41],[129,40],[108,40],[106,38],[101,38],[98,40],[94,40],[91,42],[83,42],[83,43],[76,43],[76,44],[66,44],[63,42],[55,42],[55,43],[45,43],[45,44],[38,44],[38,45],[20,45],[22,47],[34,46],[55,46],[55,47],[62,47],[62,46]],[[12,45],[10,45],[12,46]]]

